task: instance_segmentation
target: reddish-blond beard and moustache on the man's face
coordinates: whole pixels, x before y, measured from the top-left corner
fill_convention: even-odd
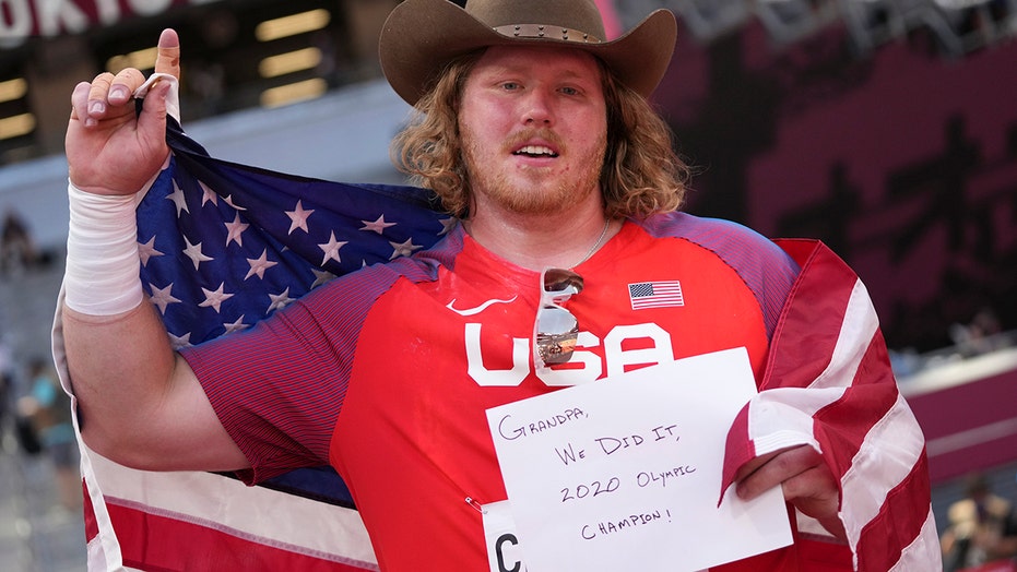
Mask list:
[[[589,193],[600,192],[601,170],[607,147],[604,133],[598,136],[592,152],[579,157],[578,163],[572,164],[567,171],[549,176],[546,172],[549,168],[532,168],[522,172],[515,168],[504,168],[505,157],[522,142],[534,138],[548,141],[559,155],[568,156],[568,145],[548,129],[519,133],[496,148],[495,156],[492,156],[490,148],[482,148],[469,130],[462,129],[466,184],[474,194],[474,204],[476,195],[483,194],[488,202],[508,212],[548,215],[567,211]]]

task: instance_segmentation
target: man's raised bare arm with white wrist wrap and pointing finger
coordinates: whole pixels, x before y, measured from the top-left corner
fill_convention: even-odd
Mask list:
[[[159,37],[156,72],[179,76],[173,31]],[[246,468],[141,290],[133,195],[169,154],[169,85],[152,87],[135,114],[132,94],[143,80],[133,69],[104,73],[79,84],[71,98],[62,333],[82,434],[98,453],[135,468]]]

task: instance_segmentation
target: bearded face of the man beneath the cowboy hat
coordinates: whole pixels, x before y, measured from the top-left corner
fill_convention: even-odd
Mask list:
[[[600,195],[607,119],[589,53],[487,49],[466,79],[459,127],[478,210],[555,214]]]

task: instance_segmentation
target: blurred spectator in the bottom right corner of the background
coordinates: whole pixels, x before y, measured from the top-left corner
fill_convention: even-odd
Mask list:
[[[944,571],[1017,570],[1017,514],[1010,501],[994,494],[984,475],[968,478],[966,498],[950,505],[941,546]]]

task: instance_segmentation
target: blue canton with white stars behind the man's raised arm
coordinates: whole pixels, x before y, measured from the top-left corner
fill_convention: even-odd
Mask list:
[[[329,279],[431,246],[456,221],[424,191],[210,158],[176,128],[138,208],[142,284],[178,347],[248,327]]]

